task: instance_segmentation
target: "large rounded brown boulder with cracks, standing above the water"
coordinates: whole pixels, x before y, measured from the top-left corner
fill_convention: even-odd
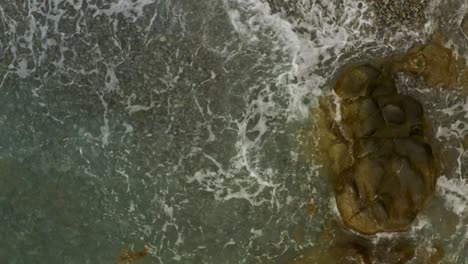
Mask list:
[[[397,93],[387,72],[351,66],[337,80],[338,98],[322,101],[337,207],[344,224],[364,234],[408,229],[436,182],[424,110]]]

